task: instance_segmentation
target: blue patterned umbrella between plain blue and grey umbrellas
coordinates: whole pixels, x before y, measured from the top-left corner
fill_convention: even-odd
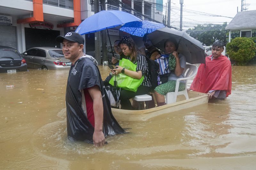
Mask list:
[[[131,35],[136,35],[143,37],[146,33],[152,33],[159,28],[165,27],[162,23],[156,23],[151,21],[133,21],[124,24],[119,30],[129,33]]]

